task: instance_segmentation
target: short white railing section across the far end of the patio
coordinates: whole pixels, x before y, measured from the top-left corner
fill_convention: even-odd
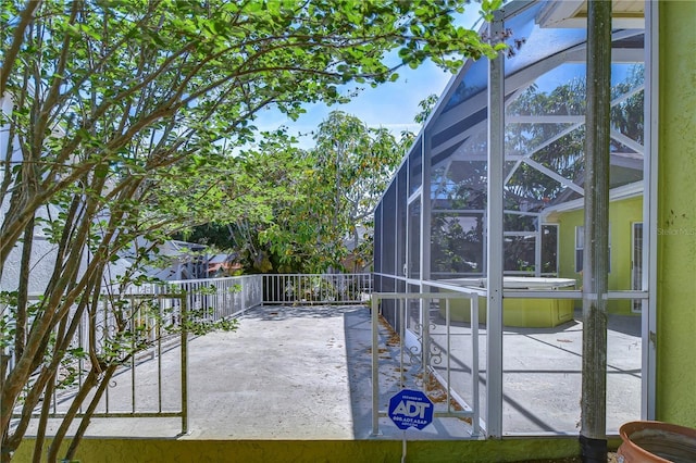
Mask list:
[[[369,273],[263,275],[264,304],[364,304],[371,293]]]

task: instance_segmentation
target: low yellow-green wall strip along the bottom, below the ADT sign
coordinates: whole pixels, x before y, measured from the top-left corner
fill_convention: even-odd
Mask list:
[[[26,439],[13,462],[30,462]],[[614,442],[616,443],[616,442]],[[400,440],[192,440],[192,439],[85,439],[76,461],[80,463],[254,463],[331,462],[375,463],[401,460]],[[407,446],[412,463],[485,463],[529,459],[557,459],[580,453],[576,437],[496,440],[413,440]]]

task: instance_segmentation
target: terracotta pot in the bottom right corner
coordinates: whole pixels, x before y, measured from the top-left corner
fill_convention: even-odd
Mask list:
[[[625,423],[619,434],[619,463],[696,462],[696,429],[642,421]]]

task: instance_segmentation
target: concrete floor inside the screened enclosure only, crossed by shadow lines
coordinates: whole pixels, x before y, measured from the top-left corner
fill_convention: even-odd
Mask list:
[[[445,321],[433,316],[434,342],[445,347]],[[502,426],[506,435],[576,435],[581,418],[582,314],[552,328],[505,327]],[[471,327],[452,323],[453,388],[471,398]],[[480,326],[480,391],[486,409],[486,330]],[[610,315],[607,333],[607,434],[641,418],[641,317]]]

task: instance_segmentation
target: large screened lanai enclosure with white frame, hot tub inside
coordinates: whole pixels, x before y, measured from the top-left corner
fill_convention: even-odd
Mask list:
[[[652,402],[645,2],[613,4],[609,435]],[[385,296],[380,310],[419,340],[451,397],[478,409],[485,435],[576,434],[585,136],[596,129],[585,125],[586,5],[511,2],[482,33],[507,52],[451,79],[375,212],[375,290],[430,296]],[[437,296],[451,292],[465,297]]]

